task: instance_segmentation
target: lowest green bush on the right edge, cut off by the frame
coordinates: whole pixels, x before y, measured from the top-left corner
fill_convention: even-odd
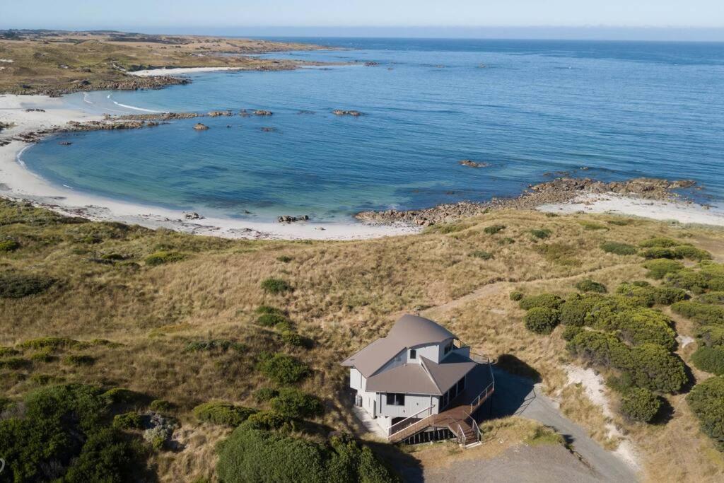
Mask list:
[[[686,402],[699,419],[702,432],[724,451],[724,379],[710,377],[697,384],[686,396]]]

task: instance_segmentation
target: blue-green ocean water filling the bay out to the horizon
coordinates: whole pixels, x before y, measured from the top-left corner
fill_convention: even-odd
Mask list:
[[[274,115],[62,135],[22,161],[74,190],[257,220],[516,196],[563,172],[691,178],[704,189],[688,194],[724,201],[724,43],[288,40],[345,50],[269,56],[378,65],[209,72],[159,91],[73,94],[69,106],[94,112]],[[193,130],[199,120],[211,129]]]

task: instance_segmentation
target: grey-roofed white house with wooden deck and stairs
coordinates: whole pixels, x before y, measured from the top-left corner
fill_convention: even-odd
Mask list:
[[[494,391],[489,361],[472,354],[432,320],[402,316],[387,337],[342,366],[350,368],[355,406],[363,408],[390,441],[446,435],[468,442],[479,439],[473,413]]]

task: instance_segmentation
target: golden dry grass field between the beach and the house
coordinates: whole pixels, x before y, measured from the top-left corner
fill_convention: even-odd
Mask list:
[[[505,229],[485,233],[492,224]],[[532,237],[530,230],[538,228],[551,230],[550,238]],[[211,477],[214,445],[226,430],[199,426],[190,409],[208,400],[258,406],[251,393],[269,383],[254,369],[256,354],[281,350],[310,364],[313,375],[301,387],[324,400],[327,411],[319,422],[355,430],[347,371],[338,363],[384,335],[401,314],[420,311],[478,353],[510,354],[533,367],[562,411],[613,447],[600,408],[579,388],[567,387],[563,366],[576,361],[565,351],[562,328],[551,336],[527,331],[523,311],[508,295],[512,290],[566,295],[584,278],[612,288],[641,280],[641,257],[605,253],[599,244],[638,243],[654,235],[686,240],[724,261],[723,230],[607,215],[492,211],[420,235],[378,240],[235,241],[114,223],[69,224],[48,211],[3,201],[0,240],[12,238],[20,248],[0,254],[0,270],[57,282],[41,295],[0,298],[0,345],[46,336],[120,345],[67,348],[59,358],[2,370],[0,390],[17,398],[41,384],[90,382],[172,401],[179,405],[187,448],[157,456],[159,476],[164,481]],[[146,256],[159,250],[186,258],[147,266]],[[487,251],[492,259],[470,256],[473,251]],[[101,263],[111,253],[123,261]],[[286,280],[294,290],[265,294],[260,282],[267,277]],[[299,332],[315,340],[313,348],[287,347],[274,329],[258,326],[254,310],[261,304],[287,310]],[[693,335],[691,324],[677,322],[681,335]],[[190,342],[211,339],[235,340],[248,349],[184,352]],[[690,352],[688,347],[681,354],[685,361]],[[96,360],[72,366],[64,360],[68,353]],[[32,354],[22,351],[25,358]],[[675,413],[664,426],[615,421],[635,442],[645,479],[720,481],[722,454],[699,432],[684,396],[668,399]],[[520,434],[527,437],[526,431]],[[413,456],[423,463],[437,458],[424,450]]]

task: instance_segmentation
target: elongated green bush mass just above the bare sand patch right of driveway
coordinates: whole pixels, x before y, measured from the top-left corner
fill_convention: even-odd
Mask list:
[[[634,387],[673,393],[689,382],[681,358],[658,344],[631,348],[610,332],[584,330],[568,343],[568,350],[594,364],[618,369]]]

